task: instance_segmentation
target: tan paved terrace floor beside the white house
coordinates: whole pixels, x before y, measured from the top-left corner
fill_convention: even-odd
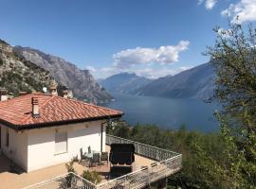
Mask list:
[[[110,147],[106,146],[106,151],[109,150]],[[134,171],[141,168],[141,166],[147,166],[155,162],[151,159],[138,155],[135,156],[135,159],[136,161],[133,164]],[[32,171],[30,173],[21,171],[20,174],[10,173],[9,164],[9,159],[6,158],[4,155],[0,155],[0,189],[24,188],[31,184],[35,184],[44,180],[49,180],[66,173],[64,163],[46,167],[44,169],[40,169],[37,171]],[[79,163],[75,163],[74,168],[77,171],[78,175],[81,175],[83,170],[88,169],[88,167],[84,167]],[[103,182],[106,181],[105,176],[108,174],[110,170],[110,163],[108,165],[105,163],[105,165],[90,167],[89,170],[96,170],[97,172],[101,173],[101,182]]]

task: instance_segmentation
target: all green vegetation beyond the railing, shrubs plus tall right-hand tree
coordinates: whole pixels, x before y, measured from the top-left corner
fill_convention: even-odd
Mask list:
[[[217,39],[206,55],[217,75],[213,99],[223,106],[215,112],[219,133],[124,124],[107,129],[182,153],[183,170],[169,180],[170,188],[256,188],[256,29],[245,32],[231,24],[227,31],[214,31]]]

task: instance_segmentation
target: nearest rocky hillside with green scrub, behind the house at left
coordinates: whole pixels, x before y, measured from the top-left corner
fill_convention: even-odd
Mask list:
[[[0,88],[14,95],[42,92],[52,78],[46,70],[19,57],[9,43],[0,40]]]

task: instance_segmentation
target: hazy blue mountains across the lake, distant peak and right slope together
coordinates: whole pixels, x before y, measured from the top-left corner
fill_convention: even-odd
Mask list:
[[[128,77],[128,78],[127,78]],[[213,95],[215,73],[210,62],[182,71],[174,76],[148,79],[136,74],[120,73],[101,80],[101,85],[110,93],[137,94],[168,98],[199,98],[207,100]],[[135,85],[137,80],[146,81]],[[129,83],[131,83],[129,85]],[[130,86],[127,90],[125,87]]]

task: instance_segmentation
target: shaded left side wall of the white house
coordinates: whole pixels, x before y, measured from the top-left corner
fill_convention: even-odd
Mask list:
[[[2,153],[27,170],[27,131],[15,131],[1,125],[1,149]],[[9,146],[6,146],[6,133],[9,130]],[[12,155],[11,153],[12,152]]]

